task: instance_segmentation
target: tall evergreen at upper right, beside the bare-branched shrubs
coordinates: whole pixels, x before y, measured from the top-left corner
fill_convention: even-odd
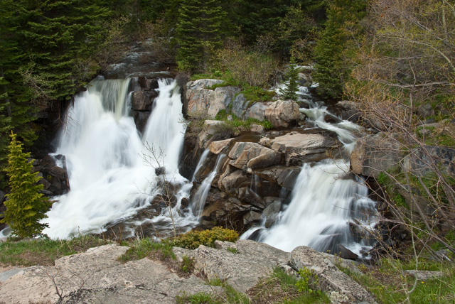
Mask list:
[[[334,0],[328,8],[326,28],[314,49],[313,79],[319,82],[317,91],[323,97],[338,99],[343,93],[352,70],[352,37],[360,35],[365,9],[366,0]]]

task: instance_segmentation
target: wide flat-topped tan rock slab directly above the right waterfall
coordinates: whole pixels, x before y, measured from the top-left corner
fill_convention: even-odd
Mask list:
[[[301,165],[309,161],[328,158],[331,150],[338,153],[341,143],[338,139],[322,134],[300,134],[291,132],[270,141],[272,150],[286,153],[287,165]]]

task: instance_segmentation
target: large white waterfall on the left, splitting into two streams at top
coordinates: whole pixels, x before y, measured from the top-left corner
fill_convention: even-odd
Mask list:
[[[56,198],[43,220],[50,238],[101,232],[134,216],[156,194],[156,166],[166,168],[167,180],[188,182],[176,172],[185,130],[176,83],[159,80],[159,97],[141,139],[128,116],[129,81],[94,80],[68,109],[56,154],[66,156],[71,190]]]

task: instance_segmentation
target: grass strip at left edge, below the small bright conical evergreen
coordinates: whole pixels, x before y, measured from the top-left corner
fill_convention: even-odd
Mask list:
[[[0,243],[0,263],[9,266],[53,266],[55,259],[84,252],[109,241],[91,235],[80,235],[69,240],[48,238],[6,241]]]

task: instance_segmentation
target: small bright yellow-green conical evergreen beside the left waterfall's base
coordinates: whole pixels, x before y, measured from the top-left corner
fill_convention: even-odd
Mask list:
[[[41,177],[38,172],[33,173],[32,161],[28,161],[30,153],[22,151],[22,144],[16,139],[16,134],[11,132],[9,145],[8,165],[6,172],[9,175],[11,192],[4,202],[6,207],[5,217],[1,219],[11,227],[17,237],[33,237],[40,234],[46,224],[38,221],[46,217],[52,205],[39,191],[43,185],[36,185]]]

